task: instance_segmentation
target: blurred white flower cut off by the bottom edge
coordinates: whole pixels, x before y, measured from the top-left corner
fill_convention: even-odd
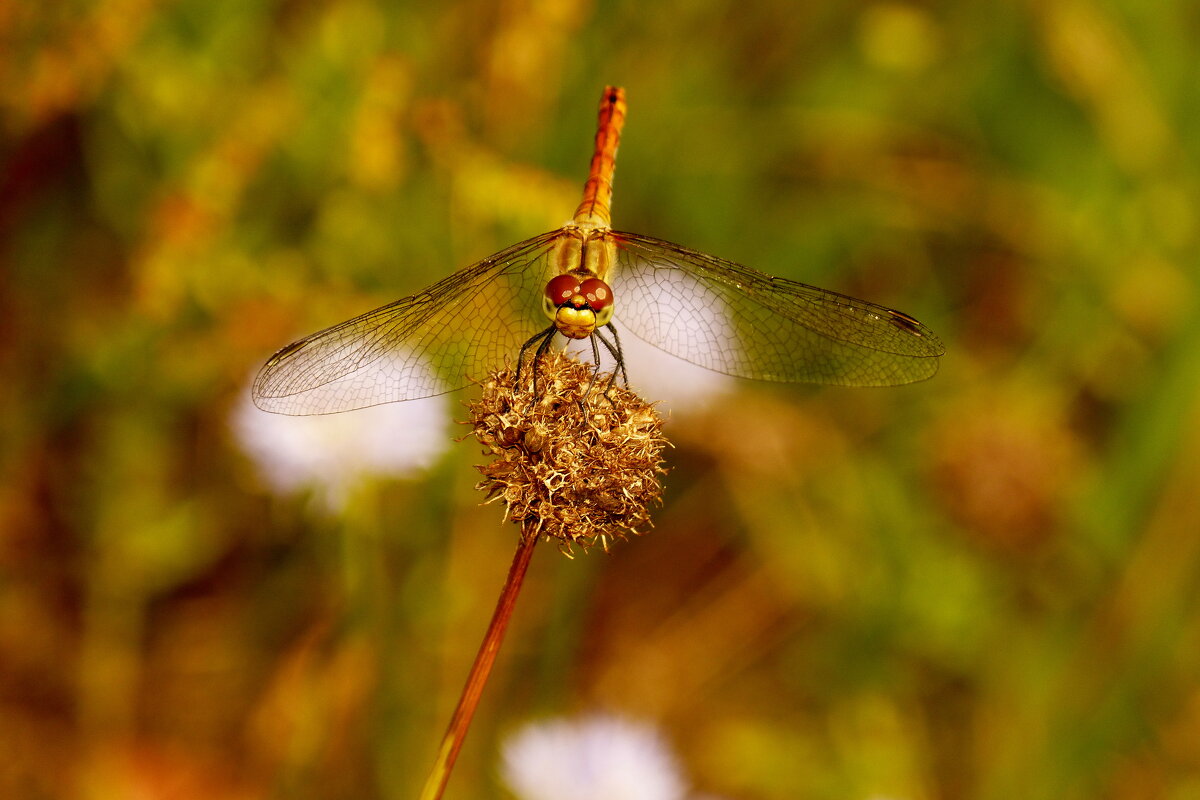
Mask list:
[[[654,727],[612,716],[529,724],[503,751],[521,800],[683,800],[678,763]]]

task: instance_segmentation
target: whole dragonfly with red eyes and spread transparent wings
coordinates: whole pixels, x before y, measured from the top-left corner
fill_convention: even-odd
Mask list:
[[[895,386],[937,372],[942,343],[904,312],[613,230],[625,110],[624,90],[606,86],[570,222],[288,344],[259,371],[254,403],[310,415],[432,397],[514,356],[536,365],[559,339],[590,339],[598,365],[599,342],[623,366],[618,326],[737,378]]]

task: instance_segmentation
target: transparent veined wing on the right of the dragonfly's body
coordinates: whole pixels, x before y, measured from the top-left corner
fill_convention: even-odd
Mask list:
[[[612,236],[618,325],[680,359],[739,378],[844,386],[937,372],[942,343],[907,314],[659,239]]]

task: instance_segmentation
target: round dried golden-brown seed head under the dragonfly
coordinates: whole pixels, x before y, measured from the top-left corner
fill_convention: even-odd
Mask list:
[[[648,506],[661,503],[662,419],[628,389],[594,379],[593,367],[560,354],[522,371],[493,372],[468,403],[475,438],[496,456],[478,467],[475,488],[503,499],[506,516],[534,535],[557,539],[566,554],[640,533]],[[607,389],[607,391],[606,391]]]

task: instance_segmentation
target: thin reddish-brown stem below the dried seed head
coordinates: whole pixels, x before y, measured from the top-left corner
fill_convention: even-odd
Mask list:
[[[479,698],[484,693],[487,676],[492,672],[492,664],[496,663],[496,654],[500,651],[500,644],[504,642],[504,633],[512,618],[512,607],[516,606],[526,570],[529,569],[529,559],[533,557],[533,546],[536,543],[536,535],[522,531],[521,543],[517,545],[517,552],[512,557],[512,566],[509,567],[509,577],[504,581],[504,589],[500,590],[500,599],[496,603],[492,621],[488,622],[487,632],[484,633],[484,642],[479,645],[475,663],[470,666],[467,684],[462,687],[462,696],[458,698],[458,706],[454,710],[454,716],[450,717],[445,736],[442,738],[437,760],[433,762],[430,777],[425,781],[420,800],[440,800],[442,793],[445,792],[450,771],[454,769],[458,751],[462,750],[462,742],[467,738],[467,728],[470,727],[470,720],[475,716],[475,709],[479,706]]]

